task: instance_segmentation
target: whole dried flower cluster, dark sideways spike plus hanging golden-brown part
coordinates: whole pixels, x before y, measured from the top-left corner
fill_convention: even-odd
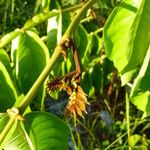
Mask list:
[[[65,90],[69,95],[69,101],[66,106],[65,116],[68,117],[71,114],[74,116],[74,124],[76,126],[77,115],[83,117],[83,113],[86,112],[87,101],[86,94],[82,90],[81,86],[77,84],[77,81],[72,78],[55,78],[48,82],[47,90],[54,92],[55,90]]]

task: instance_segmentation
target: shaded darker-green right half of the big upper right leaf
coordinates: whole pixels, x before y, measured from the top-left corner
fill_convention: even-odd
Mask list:
[[[122,74],[130,72],[141,66],[150,45],[150,1],[143,0],[131,26],[127,47],[129,60]],[[146,37],[146,38],[145,38]]]

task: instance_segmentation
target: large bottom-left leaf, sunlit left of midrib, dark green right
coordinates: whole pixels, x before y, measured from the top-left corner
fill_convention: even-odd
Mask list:
[[[25,121],[15,122],[7,139],[0,146],[5,150],[67,150],[69,128],[54,115],[45,112],[26,114]],[[0,131],[8,122],[7,114],[0,114]]]

